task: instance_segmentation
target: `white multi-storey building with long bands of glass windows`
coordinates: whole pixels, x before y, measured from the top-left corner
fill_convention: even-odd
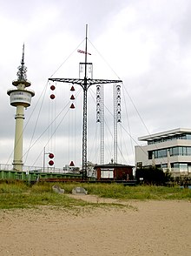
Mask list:
[[[162,131],[138,139],[147,145],[135,146],[137,167],[155,165],[174,176],[191,176],[191,129]]]

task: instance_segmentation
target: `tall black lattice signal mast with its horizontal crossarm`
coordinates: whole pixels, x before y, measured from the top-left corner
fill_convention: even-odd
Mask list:
[[[86,24],[86,37],[85,37],[85,66],[84,78],[49,78],[49,81],[63,82],[67,84],[79,84],[83,90],[83,121],[82,121],[82,179],[87,179],[87,94],[88,89],[93,84],[117,84],[122,83],[122,80],[109,80],[109,79],[93,79],[87,77],[88,63],[88,24]]]

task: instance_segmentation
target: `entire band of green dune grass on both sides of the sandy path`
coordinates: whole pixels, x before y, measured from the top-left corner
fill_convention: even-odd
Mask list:
[[[89,207],[95,204],[87,203],[79,199],[71,199],[67,193],[71,193],[76,186],[83,186],[89,194],[102,198],[113,199],[138,199],[138,200],[190,200],[191,190],[164,186],[123,186],[117,184],[59,184],[65,190],[65,194],[57,194],[51,189],[52,184],[26,185],[24,183],[0,184],[0,209],[31,208],[39,205],[62,206],[72,209],[77,206]],[[96,205],[97,206],[97,205]]]

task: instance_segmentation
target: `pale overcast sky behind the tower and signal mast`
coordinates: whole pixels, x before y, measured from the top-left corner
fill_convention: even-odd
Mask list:
[[[77,49],[84,49],[86,24],[88,51],[92,54],[88,61],[94,64],[94,78],[123,81],[119,162],[135,164],[134,146],[140,144],[137,138],[148,132],[191,128],[189,0],[0,3],[1,164],[11,164],[13,160],[16,109],[10,106],[7,90],[13,88],[12,80],[17,78],[24,43],[27,77],[30,89],[36,92],[25,111],[24,165],[43,165],[44,147],[45,152],[55,153],[56,167],[71,160],[82,165],[82,90],[76,86],[76,109],[71,111],[70,84],[55,84],[56,99],[51,101],[52,83],[47,81],[51,76],[79,77],[79,62],[84,61],[84,55]],[[104,88],[105,163],[109,163],[114,157],[113,87],[107,84]],[[92,86],[88,98],[88,160],[99,164],[100,127],[95,109]],[[54,118],[56,121],[49,126]]]

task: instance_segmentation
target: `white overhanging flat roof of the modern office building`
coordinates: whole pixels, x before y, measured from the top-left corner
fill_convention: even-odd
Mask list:
[[[153,140],[155,138],[166,138],[166,137],[169,137],[169,136],[174,136],[174,135],[184,134],[184,133],[191,134],[191,129],[176,128],[176,129],[173,129],[173,130],[161,131],[161,132],[158,132],[158,133],[149,134],[147,136],[142,136],[142,137],[139,137],[138,139],[140,141],[148,141],[148,140]]]

